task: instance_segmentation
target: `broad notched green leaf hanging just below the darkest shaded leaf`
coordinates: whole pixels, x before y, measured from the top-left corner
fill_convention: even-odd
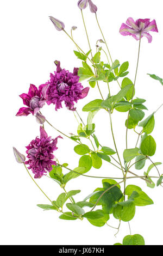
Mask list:
[[[130,202],[124,206],[116,204],[114,205],[112,214],[116,219],[128,222],[135,216],[135,204],[134,202]]]

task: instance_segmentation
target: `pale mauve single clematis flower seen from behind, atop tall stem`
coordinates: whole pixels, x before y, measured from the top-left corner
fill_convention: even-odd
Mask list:
[[[131,35],[136,40],[139,40],[141,34],[141,38],[146,36],[148,42],[152,42],[152,35],[148,33],[149,31],[158,32],[155,20],[139,19],[135,22],[133,18],[130,17],[127,19],[126,24],[122,23],[120,28],[121,35]]]

